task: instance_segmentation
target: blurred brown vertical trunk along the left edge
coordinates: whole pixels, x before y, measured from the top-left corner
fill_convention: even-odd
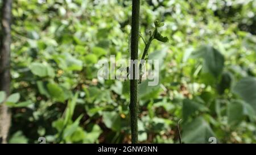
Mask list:
[[[0,46],[0,91],[10,94],[10,44],[11,44],[11,3],[12,0],[2,2],[1,16],[1,46]],[[0,105],[0,143],[7,143],[7,136],[11,123],[11,114],[5,104]]]

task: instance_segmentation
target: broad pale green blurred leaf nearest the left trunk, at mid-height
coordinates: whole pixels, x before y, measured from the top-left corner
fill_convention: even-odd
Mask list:
[[[30,70],[35,76],[39,77],[55,76],[54,70],[51,68],[51,66],[47,64],[41,64],[39,62],[33,62],[30,66]]]

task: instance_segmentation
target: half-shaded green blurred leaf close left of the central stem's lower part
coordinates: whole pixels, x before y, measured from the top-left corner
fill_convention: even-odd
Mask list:
[[[121,117],[116,111],[106,111],[102,114],[102,120],[106,127],[113,129],[114,131],[120,131],[121,129]]]

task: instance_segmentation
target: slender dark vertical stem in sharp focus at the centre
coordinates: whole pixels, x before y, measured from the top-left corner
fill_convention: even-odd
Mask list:
[[[133,0],[131,16],[131,60],[138,60],[139,44],[139,7],[140,0]],[[138,64],[137,64],[138,65]],[[131,65],[130,65],[131,66]],[[130,79],[130,118],[131,118],[131,143],[138,143],[138,82],[135,73],[138,74],[137,67],[133,67],[133,77]]]

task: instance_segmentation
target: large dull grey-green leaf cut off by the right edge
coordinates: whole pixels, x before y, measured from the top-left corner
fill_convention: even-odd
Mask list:
[[[234,87],[234,93],[237,93],[245,100],[247,103],[256,111],[256,78],[255,77],[245,77],[237,82]]]

